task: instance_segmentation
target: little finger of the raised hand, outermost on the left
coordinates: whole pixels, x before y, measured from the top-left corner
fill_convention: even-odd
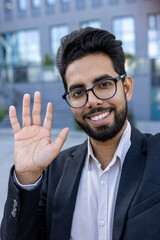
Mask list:
[[[10,106],[10,108],[9,108],[9,118],[10,118],[13,132],[14,132],[14,134],[16,134],[18,131],[20,131],[21,127],[18,122],[16,109],[14,106]]]

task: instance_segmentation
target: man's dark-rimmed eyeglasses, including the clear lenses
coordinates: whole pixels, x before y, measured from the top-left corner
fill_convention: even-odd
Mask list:
[[[92,88],[74,89],[69,92],[65,92],[62,98],[72,108],[81,108],[88,101],[88,92],[92,91],[93,94],[101,100],[107,100],[112,98],[117,92],[117,82],[122,80],[126,75],[123,74],[117,78],[106,78],[93,85]]]

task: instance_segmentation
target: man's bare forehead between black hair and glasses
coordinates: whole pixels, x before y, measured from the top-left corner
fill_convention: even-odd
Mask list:
[[[66,69],[66,82],[69,89],[72,84],[89,85],[102,75],[117,77],[112,60],[104,54],[92,54],[72,62]]]

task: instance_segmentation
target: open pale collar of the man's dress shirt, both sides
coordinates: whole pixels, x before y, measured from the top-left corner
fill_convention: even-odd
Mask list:
[[[127,121],[127,127],[126,127],[124,133],[122,134],[122,137],[121,137],[118,147],[115,151],[113,159],[110,162],[110,164],[107,166],[107,168],[109,166],[111,167],[116,162],[116,160],[119,159],[120,160],[120,168],[122,169],[125,156],[129,150],[130,146],[131,146],[131,125]],[[90,169],[90,159],[96,161],[96,163],[100,166],[100,163],[94,156],[93,149],[92,149],[89,137],[88,137],[88,152],[87,152],[86,165],[88,166],[89,169]]]

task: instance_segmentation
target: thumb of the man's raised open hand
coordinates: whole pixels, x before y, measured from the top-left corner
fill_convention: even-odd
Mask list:
[[[64,128],[62,129],[62,131],[59,133],[58,137],[56,138],[56,140],[51,143],[51,147],[52,147],[52,152],[54,153],[53,159],[59,154],[59,152],[61,151],[61,148],[63,146],[63,144],[66,141],[67,135],[69,132],[69,128]]]

